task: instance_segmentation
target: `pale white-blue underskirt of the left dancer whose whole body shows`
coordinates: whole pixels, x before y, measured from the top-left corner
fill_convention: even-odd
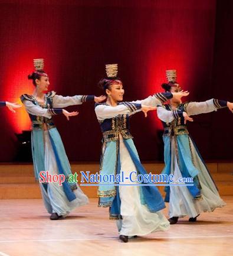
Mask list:
[[[50,136],[48,131],[44,131],[44,145],[45,145],[45,171],[49,174],[58,174],[57,162],[54,155],[54,150],[51,145]],[[48,189],[45,190],[44,186],[40,183],[42,199],[44,200],[45,207],[48,213],[55,212],[58,215],[66,216],[74,208],[88,203],[88,197],[82,192],[77,185],[77,190],[74,190],[76,199],[69,201],[65,196],[63,186],[58,183],[48,183]]]

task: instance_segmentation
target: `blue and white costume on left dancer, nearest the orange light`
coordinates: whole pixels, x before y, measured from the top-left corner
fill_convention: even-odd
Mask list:
[[[68,182],[68,176],[72,174],[71,167],[52,115],[62,114],[62,108],[66,106],[93,100],[92,95],[63,97],[55,92],[48,92],[45,94],[45,104],[41,106],[34,96],[21,96],[32,122],[31,144],[35,179],[39,181],[40,171],[48,171],[51,175],[64,174],[66,177],[63,186],[58,183],[40,183],[42,199],[48,213],[66,216],[74,208],[88,203],[88,198],[80,187],[76,183]],[[44,129],[44,125],[47,129]]]

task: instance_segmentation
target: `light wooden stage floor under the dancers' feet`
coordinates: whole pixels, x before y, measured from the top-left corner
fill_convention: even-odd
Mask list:
[[[196,223],[183,218],[167,232],[130,239],[126,244],[119,242],[108,210],[97,208],[97,199],[59,221],[50,221],[41,199],[0,200],[0,255],[232,256],[233,196],[223,199],[225,208],[202,213]]]

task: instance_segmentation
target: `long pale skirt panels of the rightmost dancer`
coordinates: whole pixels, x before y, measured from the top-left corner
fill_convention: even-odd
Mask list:
[[[171,173],[174,175],[174,180],[177,180],[179,177],[182,177],[182,174],[176,158],[174,137],[172,137],[171,143]],[[195,218],[201,212],[212,212],[216,208],[222,208],[226,205],[226,203],[219,196],[218,190],[209,176],[204,163],[196,152],[192,141],[190,141],[190,143],[193,153],[193,164],[199,170],[198,179],[202,187],[201,195],[203,199],[193,199],[186,186],[170,186],[170,218],[174,216],[182,218],[186,215],[188,215],[190,218]]]

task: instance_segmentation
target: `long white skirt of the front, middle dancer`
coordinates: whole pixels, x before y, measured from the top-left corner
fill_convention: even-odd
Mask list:
[[[125,177],[129,177],[131,171],[136,171],[129,151],[122,140],[120,140],[120,161],[121,172],[124,171]],[[130,180],[126,180],[123,184],[130,183],[132,183]],[[151,232],[168,230],[170,223],[162,211],[152,213],[145,205],[141,204],[139,189],[139,186],[119,186],[120,214],[122,215],[122,219],[117,221],[119,234],[147,235]]]

